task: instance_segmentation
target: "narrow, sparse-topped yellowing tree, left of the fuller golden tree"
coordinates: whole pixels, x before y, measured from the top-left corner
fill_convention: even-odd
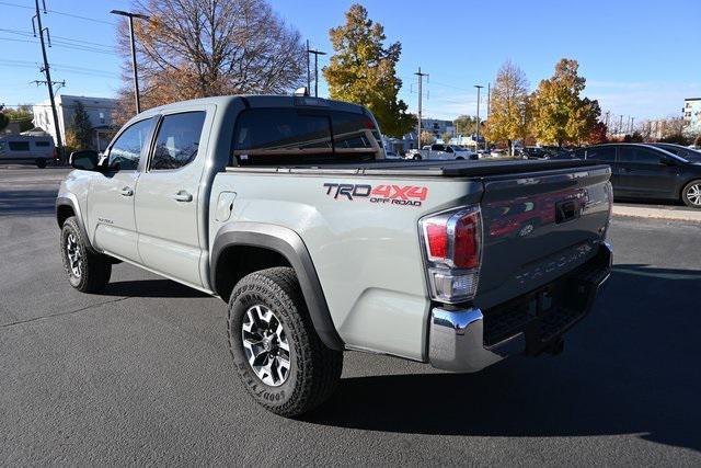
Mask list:
[[[528,79],[524,71],[506,61],[492,87],[490,119],[484,135],[490,141],[506,141],[514,155],[514,140],[527,133]]]

